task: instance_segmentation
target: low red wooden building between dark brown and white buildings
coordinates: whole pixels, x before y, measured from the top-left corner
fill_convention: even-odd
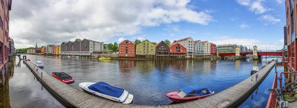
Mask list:
[[[174,43],[169,45],[169,53],[170,55],[186,55],[187,48],[185,48],[179,43]]]

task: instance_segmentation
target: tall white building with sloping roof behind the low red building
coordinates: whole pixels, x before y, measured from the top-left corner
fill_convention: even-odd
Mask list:
[[[174,40],[173,43],[179,43],[182,46],[184,46],[185,48],[187,48],[187,56],[194,56],[194,52],[195,52],[195,41],[192,37],[187,37],[187,38],[183,38],[180,40]]]

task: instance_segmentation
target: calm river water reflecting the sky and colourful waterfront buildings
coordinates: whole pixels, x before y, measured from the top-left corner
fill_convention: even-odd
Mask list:
[[[27,55],[27,59],[31,62],[42,61],[45,72],[68,73],[75,79],[71,85],[79,90],[80,82],[103,81],[133,94],[133,104],[149,106],[174,104],[165,94],[189,85],[202,84],[218,93],[249,77],[254,65],[261,68],[261,63],[272,60],[119,61],[36,55]],[[277,70],[283,72],[284,68],[278,66]],[[272,86],[274,72],[273,69],[240,108],[266,106],[269,97],[267,88]],[[41,84],[18,59],[15,60],[13,75],[9,78],[8,97],[12,108],[63,107],[45,89],[42,90]]]

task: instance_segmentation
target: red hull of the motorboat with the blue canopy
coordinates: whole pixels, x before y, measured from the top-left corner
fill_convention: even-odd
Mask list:
[[[190,101],[195,101],[210,95],[213,95],[214,92],[211,92],[209,95],[204,95],[204,96],[196,96],[196,97],[188,97],[188,98],[181,98],[180,96],[177,95],[177,91],[175,92],[170,92],[166,94],[166,97],[169,98],[171,101],[178,102],[178,103],[186,103]]]

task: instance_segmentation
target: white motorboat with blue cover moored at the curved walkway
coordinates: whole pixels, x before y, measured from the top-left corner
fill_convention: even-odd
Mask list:
[[[105,82],[83,82],[78,85],[84,92],[97,97],[102,97],[122,104],[132,104],[133,102],[133,95],[129,94],[128,91],[111,86]]]

